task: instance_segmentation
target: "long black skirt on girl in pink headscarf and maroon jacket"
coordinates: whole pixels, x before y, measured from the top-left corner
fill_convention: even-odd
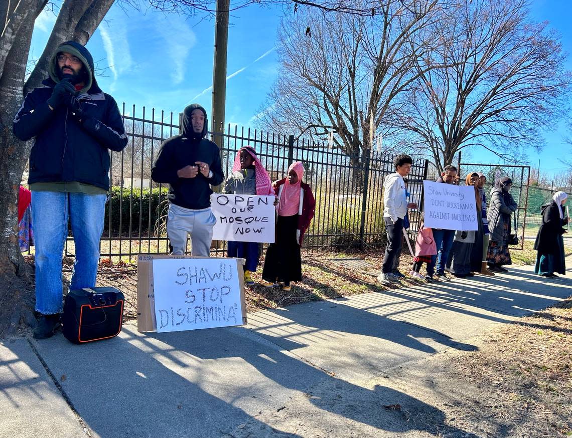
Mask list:
[[[262,278],[267,282],[289,283],[302,280],[300,245],[296,242],[298,215],[278,216],[276,242],[266,251]]]

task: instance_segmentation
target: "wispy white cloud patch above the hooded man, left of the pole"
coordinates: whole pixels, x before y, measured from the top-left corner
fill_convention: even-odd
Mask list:
[[[169,15],[168,21],[159,21],[157,31],[164,38],[165,52],[172,68],[171,80],[179,84],[185,79],[186,58],[197,43],[197,37],[182,17]],[[176,38],[173,38],[176,35]]]

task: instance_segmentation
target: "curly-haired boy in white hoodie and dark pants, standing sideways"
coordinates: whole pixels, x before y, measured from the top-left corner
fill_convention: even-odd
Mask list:
[[[399,254],[403,244],[403,218],[407,207],[416,208],[415,203],[407,203],[404,176],[411,171],[413,160],[409,155],[400,154],[395,157],[395,174],[388,175],[383,183],[383,221],[386,224],[387,247],[383,258],[382,271],[378,282],[382,284],[400,283],[392,274],[395,256]]]

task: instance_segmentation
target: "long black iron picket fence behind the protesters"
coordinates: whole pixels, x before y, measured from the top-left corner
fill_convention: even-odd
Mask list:
[[[161,142],[179,131],[179,116],[172,112],[122,107],[128,146],[111,152],[109,200],[106,204],[102,258],[137,254],[165,254],[168,251],[165,218],[168,187],[154,183],[151,167]],[[293,136],[228,126],[224,134],[209,133],[221,144],[223,171],[232,172],[237,151],[255,147],[272,179],[283,178],[293,161],[304,164],[304,180],[316,198],[316,215],[307,231],[306,251],[344,250],[351,247],[379,247],[384,243],[383,181],[394,172],[393,156],[369,151],[351,157],[328,143],[295,140]],[[422,200],[427,160],[415,159],[409,178],[411,201]],[[418,230],[418,215],[411,212],[410,237]],[[222,254],[225,243],[213,248]],[[66,253],[74,255],[73,238],[66,242]]]

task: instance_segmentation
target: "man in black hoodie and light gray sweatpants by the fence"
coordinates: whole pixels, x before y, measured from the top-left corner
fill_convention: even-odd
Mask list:
[[[185,254],[190,234],[192,255],[209,256],[215,215],[210,211],[210,186],[223,182],[219,147],[205,138],[208,120],[198,104],[185,108],[181,134],[161,144],[151,178],[169,184],[167,235],[171,254]]]

